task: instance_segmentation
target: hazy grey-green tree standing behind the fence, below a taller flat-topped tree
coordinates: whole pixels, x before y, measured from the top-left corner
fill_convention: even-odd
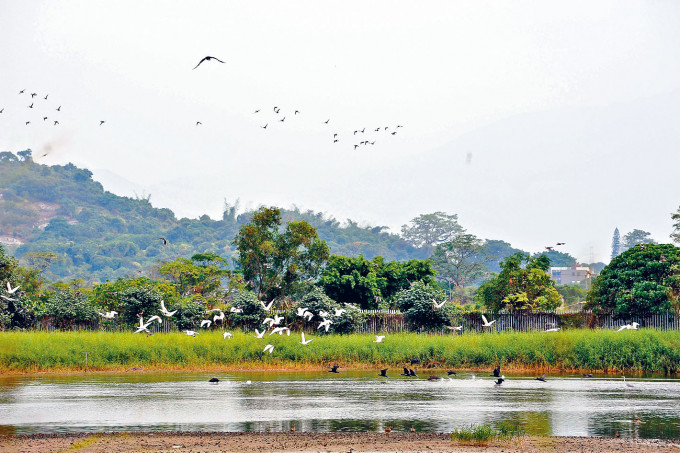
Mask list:
[[[483,252],[482,240],[473,234],[461,233],[437,245],[430,259],[439,278],[455,286],[465,286],[487,272],[480,259]]]

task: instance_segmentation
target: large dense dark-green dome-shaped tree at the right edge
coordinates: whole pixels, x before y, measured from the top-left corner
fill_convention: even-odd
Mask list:
[[[638,244],[614,258],[593,281],[586,308],[618,317],[642,317],[678,308],[680,249]]]

